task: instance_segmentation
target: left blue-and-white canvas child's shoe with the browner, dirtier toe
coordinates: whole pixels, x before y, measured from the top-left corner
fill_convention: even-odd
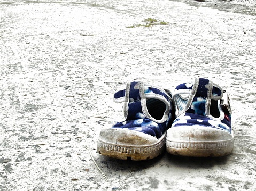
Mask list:
[[[167,89],[128,83],[114,94],[114,101],[124,102],[124,118],[100,131],[98,153],[122,160],[146,160],[165,150],[166,131],[172,119],[172,95]]]

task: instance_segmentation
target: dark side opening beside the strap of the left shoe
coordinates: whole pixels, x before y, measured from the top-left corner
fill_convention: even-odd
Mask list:
[[[146,99],[146,107],[149,114],[156,120],[162,119],[166,110],[165,103],[158,99]]]

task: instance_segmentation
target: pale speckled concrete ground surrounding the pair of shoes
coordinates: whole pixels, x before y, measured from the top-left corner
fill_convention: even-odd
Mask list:
[[[256,18],[203,3],[0,1],[0,190],[255,190]],[[157,22],[139,27],[146,18]],[[229,93],[231,155],[97,153],[126,82],[173,90],[195,77]]]

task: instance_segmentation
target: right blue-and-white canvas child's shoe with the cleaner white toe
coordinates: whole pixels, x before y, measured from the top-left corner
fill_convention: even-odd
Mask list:
[[[234,147],[229,97],[210,80],[181,84],[173,94],[175,117],[166,150],[182,156],[224,156]]]

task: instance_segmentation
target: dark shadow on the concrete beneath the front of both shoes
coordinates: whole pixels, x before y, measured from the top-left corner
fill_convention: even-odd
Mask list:
[[[106,170],[108,175],[129,175],[130,173],[143,172],[147,169],[165,167],[168,169],[211,169],[214,166],[225,165],[229,161],[228,156],[222,157],[185,157],[175,156],[167,152],[158,157],[145,161],[119,160],[100,155],[97,163]],[[163,170],[163,173],[166,170]]]

